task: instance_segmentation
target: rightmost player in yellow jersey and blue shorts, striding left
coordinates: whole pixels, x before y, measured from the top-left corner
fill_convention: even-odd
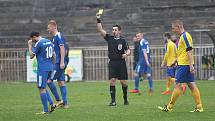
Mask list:
[[[184,30],[183,22],[176,20],[172,23],[172,31],[180,35],[177,48],[176,84],[169,103],[158,108],[165,112],[171,112],[177,98],[181,95],[181,83],[187,83],[195,100],[196,108],[190,112],[203,112],[200,92],[194,80],[193,41],[191,35]]]

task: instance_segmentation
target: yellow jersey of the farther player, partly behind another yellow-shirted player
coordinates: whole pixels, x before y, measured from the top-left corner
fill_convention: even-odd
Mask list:
[[[166,53],[164,55],[164,62],[166,62],[166,66],[171,66],[176,60],[176,49],[175,43],[168,40],[166,44]]]

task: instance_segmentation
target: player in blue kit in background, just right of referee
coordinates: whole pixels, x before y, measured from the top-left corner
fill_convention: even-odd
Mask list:
[[[151,62],[150,62],[150,48],[149,42],[143,38],[142,33],[136,34],[137,40],[140,41],[139,46],[139,59],[135,68],[135,77],[134,77],[134,92],[139,92],[139,80],[141,77],[147,77],[149,82],[149,95],[152,95],[153,92],[153,81],[151,76]],[[131,92],[131,91],[130,91]]]

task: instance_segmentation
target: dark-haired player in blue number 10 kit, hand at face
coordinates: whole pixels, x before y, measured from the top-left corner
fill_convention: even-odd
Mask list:
[[[37,58],[37,87],[39,88],[40,97],[43,105],[43,111],[37,114],[47,114],[55,109],[53,101],[46,90],[47,80],[53,70],[53,54],[54,46],[48,39],[42,38],[39,32],[32,32],[30,34],[31,40],[28,41],[28,49],[30,58]],[[32,44],[35,43],[33,47]],[[48,103],[51,109],[48,109]]]

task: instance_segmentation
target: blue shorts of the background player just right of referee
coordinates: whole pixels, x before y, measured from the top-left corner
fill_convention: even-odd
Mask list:
[[[139,65],[137,64],[135,68],[135,72],[138,73],[139,75],[141,74],[151,74],[151,67],[147,65]]]

